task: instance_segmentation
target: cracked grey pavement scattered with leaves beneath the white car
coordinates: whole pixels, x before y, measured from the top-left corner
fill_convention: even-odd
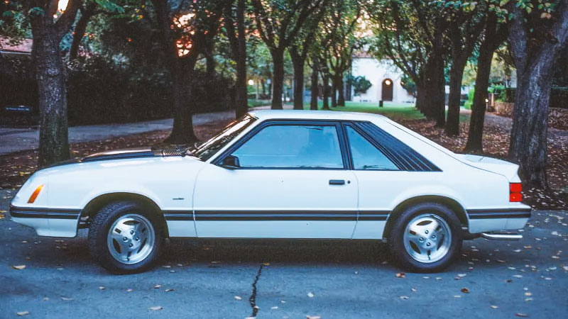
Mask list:
[[[0,210],[14,193],[0,191]],[[466,241],[439,274],[398,278],[378,242],[172,240],[152,271],[116,276],[92,262],[84,230],[38,237],[4,218],[0,317],[566,318],[567,222],[537,211],[520,242]]]

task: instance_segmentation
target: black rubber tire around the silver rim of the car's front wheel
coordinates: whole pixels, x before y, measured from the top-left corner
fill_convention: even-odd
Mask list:
[[[107,245],[109,230],[116,220],[122,216],[136,214],[146,218],[153,227],[154,242],[148,246],[151,252],[140,262],[127,264],[114,258]],[[89,225],[89,252],[102,267],[114,274],[133,274],[150,269],[160,257],[163,248],[163,221],[155,211],[133,201],[118,201],[104,206]],[[151,247],[151,248],[150,248]]]

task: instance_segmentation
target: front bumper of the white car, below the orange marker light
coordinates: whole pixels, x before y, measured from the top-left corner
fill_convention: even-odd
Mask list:
[[[81,216],[78,209],[31,208],[11,205],[10,219],[35,229],[40,236],[75,237]]]

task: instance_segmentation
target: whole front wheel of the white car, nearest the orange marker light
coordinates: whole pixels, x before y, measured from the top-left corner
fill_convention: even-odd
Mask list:
[[[110,272],[142,272],[160,255],[163,235],[159,225],[155,213],[138,203],[112,203],[89,226],[89,251]]]

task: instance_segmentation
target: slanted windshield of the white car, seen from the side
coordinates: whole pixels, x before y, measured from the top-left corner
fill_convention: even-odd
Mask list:
[[[248,128],[255,120],[256,118],[246,114],[234,122],[231,122],[221,131],[221,133],[215,135],[207,140],[207,142],[204,142],[202,145],[197,147],[191,155],[199,157],[202,161],[207,161],[207,159],[212,157],[225,145],[231,142],[236,135],[239,135],[245,128]]]

